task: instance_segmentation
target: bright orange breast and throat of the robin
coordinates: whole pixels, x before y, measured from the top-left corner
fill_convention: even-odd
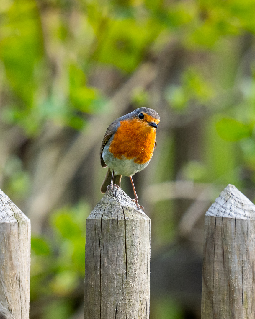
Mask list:
[[[120,121],[109,151],[118,159],[125,156],[144,164],[152,157],[155,138],[156,129],[139,119]]]

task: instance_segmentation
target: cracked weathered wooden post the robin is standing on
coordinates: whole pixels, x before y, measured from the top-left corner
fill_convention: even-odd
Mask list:
[[[87,218],[84,319],[149,319],[150,219],[113,193]]]

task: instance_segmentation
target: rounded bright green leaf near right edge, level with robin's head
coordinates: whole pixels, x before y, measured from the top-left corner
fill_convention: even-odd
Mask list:
[[[221,138],[231,142],[240,141],[252,134],[251,125],[246,125],[231,118],[223,118],[217,122],[216,130]]]

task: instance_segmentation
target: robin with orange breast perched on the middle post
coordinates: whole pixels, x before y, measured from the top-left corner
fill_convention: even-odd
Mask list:
[[[108,166],[102,193],[106,192],[108,185],[113,190],[113,183],[120,187],[122,175],[129,176],[135,194],[133,201],[138,209],[143,208],[138,203],[132,176],[149,164],[157,146],[159,121],[159,115],[151,108],[137,108],[109,125],[100,149],[101,166]]]

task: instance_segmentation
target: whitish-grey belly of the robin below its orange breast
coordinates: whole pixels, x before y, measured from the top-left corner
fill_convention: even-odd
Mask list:
[[[132,176],[142,171],[149,164],[149,161],[144,164],[137,164],[134,163],[133,159],[126,159],[125,156],[122,156],[123,159],[114,157],[113,154],[109,152],[109,143],[104,147],[102,157],[111,172],[114,171],[114,175]]]

